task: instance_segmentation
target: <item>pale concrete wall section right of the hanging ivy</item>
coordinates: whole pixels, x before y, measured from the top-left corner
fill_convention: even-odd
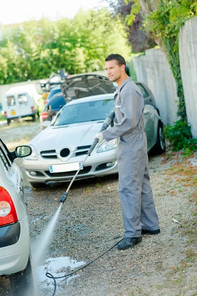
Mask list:
[[[179,58],[188,122],[197,137],[197,17],[188,20],[179,32]]]

